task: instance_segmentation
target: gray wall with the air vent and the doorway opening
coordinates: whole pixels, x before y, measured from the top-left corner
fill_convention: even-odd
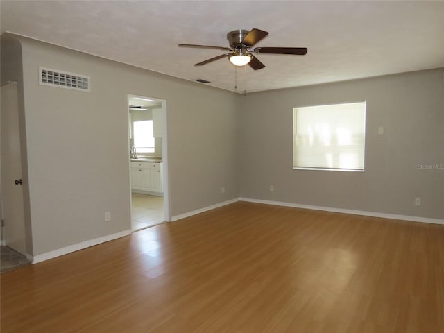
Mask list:
[[[33,255],[130,229],[127,94],[167,100],[172,216],[237,197],[239,96],[19,40]],[[90,76],[91,92],[39,85],[39,66]]]

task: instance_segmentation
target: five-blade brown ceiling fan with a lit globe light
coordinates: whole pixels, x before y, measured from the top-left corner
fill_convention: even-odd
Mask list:
[[[253,53],[259,54],[291,54],[296,56],[303,56],[307,53],[306,47],[256,47],[250,49],[257,42],[264,39],[268,33],[263,30],[253,28],[248,30],[234,30],[227,34],[227,40],[230,47],[211,46],[211,45],[196,45],[196,44],[179,44],[180,47],[191,47],[195,49],[216,49],[221,51],[230,51],[230,53],[221,54],[214,58],[204,60],[194,64],[194,66],[205,65],[208,62],[228,57],[230,62],[235,66],[250,65],[251,68],[257,70],[262,69],[265,65],[259,61]]]

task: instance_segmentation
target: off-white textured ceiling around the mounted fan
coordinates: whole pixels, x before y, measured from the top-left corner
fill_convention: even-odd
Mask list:
[[[443,1],[4,1],[9,31],[103,58],[235,91],[227,59],[194,67],[259,28],[255,46],[306,46],[306,56],[258,55],[237,69],[237,92],[262,91],[444,67]]]

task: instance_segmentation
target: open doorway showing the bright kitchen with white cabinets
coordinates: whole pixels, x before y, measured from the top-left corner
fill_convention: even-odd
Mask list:
[[[170,221],[167,101],[128,94],[131,230]]]

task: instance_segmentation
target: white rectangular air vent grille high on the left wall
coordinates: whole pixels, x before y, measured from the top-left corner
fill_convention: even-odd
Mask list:
[[[75,89],[82,92],[89,92],[90,88],[89,76],[45,67],[39,67],[39,83],[40,85]]]

